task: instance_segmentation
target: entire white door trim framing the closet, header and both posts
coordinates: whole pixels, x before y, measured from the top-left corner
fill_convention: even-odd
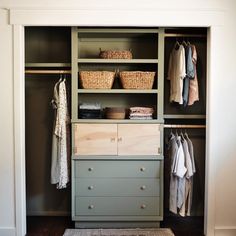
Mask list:
[[[143,17],[137,19],[137,15]],[[173,18],[175,14],[175,18]],[[122,15],[122,21],[120,16]],[[207,18],[206,18],[207,15]],[[24,107],[24,27],[23,26],[140,26],[140,27],[209,27],[207,58],[207,128],[206,128],[206,187],[204,231],[214,235],[215,227],[215,164],[214,119],[212,104],[213,78],[219,78],[219,56],[214,48],[219,40],[224,12],[216,10],[10,10],[14,25],[14,134],[15,134],[15,199],[16,235],[26,233],[25,198],[25,107]],[[188,19],[188,21],[186,21]],[[207,20],[206,20],[207,19]],[[217,45],[218,46],[218,45]]]

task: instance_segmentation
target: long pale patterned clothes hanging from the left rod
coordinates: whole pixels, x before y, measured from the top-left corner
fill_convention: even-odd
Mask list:
[[[54,86],[53,108],[56,110],[53,141],[51,183],[57,184],[58,189],[66,188],[69,182],[68,153],[67,153],[67,125],[69,123],[65,80]]]

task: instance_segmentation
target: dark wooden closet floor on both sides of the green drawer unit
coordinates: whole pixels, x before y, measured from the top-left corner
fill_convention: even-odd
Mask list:
[[[161,227],[171,228],[175,236],[203,236],[202,217],[168,217]],[[66,228],[74,228],[70,217],[27,217],[27,236],[62,236]]]

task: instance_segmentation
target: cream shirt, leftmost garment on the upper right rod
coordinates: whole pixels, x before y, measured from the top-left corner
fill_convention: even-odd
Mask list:
[[[172,49],[169,58],[168,77],[170,80],[170,102],[183,104],[183,79],[186,75],[185,49],[183,45]]]

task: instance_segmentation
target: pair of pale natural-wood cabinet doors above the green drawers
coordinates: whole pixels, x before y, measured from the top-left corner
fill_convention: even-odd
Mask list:
[[[160,155],[159,124],[75,124],[74,155]]]

